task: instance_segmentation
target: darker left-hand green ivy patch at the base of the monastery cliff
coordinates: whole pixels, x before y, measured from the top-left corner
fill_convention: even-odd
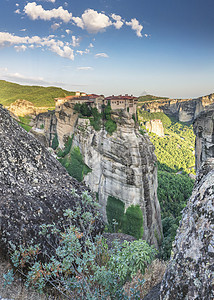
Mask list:
[[[111,232],[117,232],[122,227],[125,204],[113,196],[108,196],[106,214]],[[116,224],[117,223],[117,224]]]

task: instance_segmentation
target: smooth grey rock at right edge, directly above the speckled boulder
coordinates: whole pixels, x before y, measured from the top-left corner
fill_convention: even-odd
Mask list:
[[[214,106],[200,113],[193,123],[196,135],[195,160],[196,170],[210,157],[214,157]]]

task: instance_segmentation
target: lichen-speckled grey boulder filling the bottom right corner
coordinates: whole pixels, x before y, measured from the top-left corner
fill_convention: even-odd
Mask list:
[[[214,299],[214,158],[202,165],[183,211],[160,299]]]

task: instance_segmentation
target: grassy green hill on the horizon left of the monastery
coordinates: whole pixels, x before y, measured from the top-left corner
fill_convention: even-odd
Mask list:
[[[53,107],[54,98],[70,95],[74,95],[74,92],[57,87],[20,85],[0,80],[0,104],[4,106],[9,106],[17,99],[24,99],[37,107]]]

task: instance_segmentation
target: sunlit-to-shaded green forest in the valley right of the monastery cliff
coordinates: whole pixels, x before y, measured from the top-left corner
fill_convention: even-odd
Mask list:
[[[192,125],[176,122],[161,112],[149,113],[139,109],[142,130],[145,131],[145,122],[153,119],[162,121],[165,133],[164,137],[149,135],[158,159],[158,199],[164,233],[161,256],[169,259],[181,211],[193,188],[193,180],[187,174],[195,172],[195,136]]]

